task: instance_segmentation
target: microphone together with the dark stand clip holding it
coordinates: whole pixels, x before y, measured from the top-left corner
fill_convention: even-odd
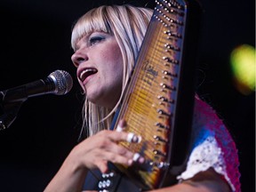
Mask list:
[[[56,70],[44,79],[0,92],[0,131],[16,119],[22,103],[30,97],[44,94],[64,95],[73,86],[73,79],[64,70]]]

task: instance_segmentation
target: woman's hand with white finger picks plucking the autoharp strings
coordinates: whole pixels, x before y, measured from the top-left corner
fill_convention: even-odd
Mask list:
[[[82,141],[70,154],[76,159],[77,167],[87,169],[100,169],[100,172],[108,172],[108,162],[114,164],[131,165],[134,155],[127,148],[117,143],[119,141],[138,142],[140,137],[131,132],[123,132],[124,121],[120,121],[118,131],[101,131]],[[138,160],[138,159],[136,159]],[[140,157],[140,162],[143,158]]]

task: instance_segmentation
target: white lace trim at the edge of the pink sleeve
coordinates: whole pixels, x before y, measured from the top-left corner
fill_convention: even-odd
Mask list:
[[[223,175],[232,190],[236,191],[236,188],[228,178],[223,152],[221,151],[221,148],[218,147],[217,141],[211,136],[194,148],[189,156],[187,170],[182,172],[177,179],[188,180],[189,178],[194,177],[196,173],[204,172],[210,167],[212,167],[215,172]]]

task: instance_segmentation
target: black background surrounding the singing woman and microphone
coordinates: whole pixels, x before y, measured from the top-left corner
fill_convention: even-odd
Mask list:
[[[76,68],[70,60],[71,26],[101,2],[1,0],[0,90],[44,78],[56,69],[67,70],[75,85],[67,95],[27,100],[12,126],[0,132],[0,191],[43,191],[76,145],[82,101]],[[236,90],[229,56],[240,44],[255,47],[255,2],[201,3],[204,18],[199,68],[204,71],[200,77],[204,81],[197,91],[228,125],[240,156],[242,190],[254,191],[255,94]]]

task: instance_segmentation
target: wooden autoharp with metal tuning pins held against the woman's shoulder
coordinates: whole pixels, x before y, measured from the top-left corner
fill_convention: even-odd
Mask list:
[[[117,171],[104,175],[99,190],[115,191],[118,181],[110,178],[118,172],[148,190],[171,185],[183,171],[189,155],[200,13],[196,1],[156,1],[114,128],[124,119],[125,131],[142,137],[139,144],[120,145],[140,153],[146,163],[115,164]]]

